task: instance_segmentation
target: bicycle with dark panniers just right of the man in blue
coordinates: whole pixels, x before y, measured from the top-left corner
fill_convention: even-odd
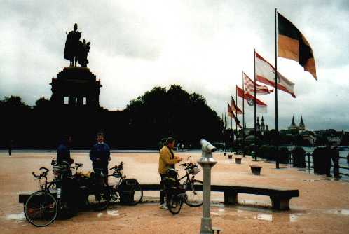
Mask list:
[[[111,167],[110,170],[114,170],[114,172],[108,177],[119,179],[117,184],[109,187],[111,200],[120,199],[121,203],[128,205],[137,205],[141,202],[143,198],[142,187],[136,179],[126,179],[126,176],[123,175],[123,162]]]

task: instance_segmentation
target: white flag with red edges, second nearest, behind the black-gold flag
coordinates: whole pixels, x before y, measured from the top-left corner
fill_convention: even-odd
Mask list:
[[[264,60],[259,53],[254,53],[256,60],[256,80],[275,87],[275,68],[266,60]],[[292,97],[296,98],[294,95],[294,83],[287,80],[280,72],[278,72],[278,90],[289,93]]]

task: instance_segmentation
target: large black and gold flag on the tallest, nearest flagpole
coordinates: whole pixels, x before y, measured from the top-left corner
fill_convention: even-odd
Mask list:
[[[278,56],[299,62],[317,80],[313,50],[303,34],[280,13],[278,29]]]

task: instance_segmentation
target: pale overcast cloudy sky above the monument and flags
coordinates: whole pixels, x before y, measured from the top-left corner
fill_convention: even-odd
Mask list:
[[[116,110],[153,86],[198,92],[219,115],[242,71],[254,72],[254,48],[274,64],[274,9],[291,20],[313,48],[318,81],[292,60],[278,71],[297,98],[279,92],[279,124],[303,115],[310,130],[349,130],[348,1],[0,1],[0,98],[29,105],[50,98],[50,79],[69,65],[65,32],[78,23],[91,42],[90,70],[103,87],[100,104]],[[259,96],[261,97],[261,96]],[[274,96],[263,96],[270,128]],[[253,113],[246,114],[252,127]]]

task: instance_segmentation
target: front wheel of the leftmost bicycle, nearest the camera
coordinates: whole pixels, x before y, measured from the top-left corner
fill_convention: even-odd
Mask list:
[[[25,218],[37,227],[48,226],[57,218],[58,204],[52,194],[38,191],[25,202]]]

